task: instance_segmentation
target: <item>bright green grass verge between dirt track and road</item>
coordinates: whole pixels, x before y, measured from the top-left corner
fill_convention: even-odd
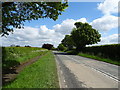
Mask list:
[[[27,66],[3,88],[59,88],[56,62],[51,51]]]

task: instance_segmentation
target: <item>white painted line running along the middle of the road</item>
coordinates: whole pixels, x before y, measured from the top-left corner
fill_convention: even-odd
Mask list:
[[[78,62],[78,63],[80,63],[78,60],[76,60],[76,59],[74,59],[74,58],[71,58],[71,57],[69,57],[69,56],[67,56],[67,55],[65,55],[65,56],[68,57],[68,58],[70,58],[70,59],[72,59],[72,60],[74,60],[74,61],[76,61],[76,62]],[[85,64],[85,63],[83,63],[83,62],[82,62],[82,64],[84,64],[85,66],[88,66],[89,68],[93,69],[94,71],[97,71],[97,72],[99,72],[99,73],[101,73],[101,74],[103,74],[103,75],[105,75],[105,76],[107,76],[107,77],[109,77],[109,78],[117,81],[117,82],[120,82],[120,80],[119,80],[117,77],[111,75],[110,73],[107,73],[107,72],[104,72],[104,71],[102,71],[102,70],[93,68],[93,67],[91,67],[90,65],[87,65],[87,64]]]

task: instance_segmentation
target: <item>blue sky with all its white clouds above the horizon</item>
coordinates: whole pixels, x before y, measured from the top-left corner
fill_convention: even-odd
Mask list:
[[[75,22],[87,22],[99,31],[101,41],[93,45],[118,43],[118,1],[69,2],[58,20],[49,18],[24,23],[24,29],[14,29],[13,34],[1,37],[2,46],[30,45],[41,47],[44,43],[57,47],[65,35],[70,34]]]

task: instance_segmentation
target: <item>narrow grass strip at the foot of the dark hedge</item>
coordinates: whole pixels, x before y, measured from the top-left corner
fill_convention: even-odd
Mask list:
[[[111,64],[115,64],[115,65],[120,65],[120,62],[115,61],[115,60],[111,60],[108,58],[98,57],[98,56],[90,55],[90,54],[86,54],[86,53],[78,53],[78,55],[83,56],[83,57],[87,57],[87,58],[91,58],[91,59],[95,59],[95,60],[99,60],[99,61],[103,61],[103,62],[107,62],[107,63],[111,63]]]

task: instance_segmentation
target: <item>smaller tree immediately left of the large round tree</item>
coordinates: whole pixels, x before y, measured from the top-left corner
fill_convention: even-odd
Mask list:
[[[65,35],[65,38],[61,42],[65,47],[68,48],[68,50],[73,49],[74,42],[72,40],[71,35]]]

